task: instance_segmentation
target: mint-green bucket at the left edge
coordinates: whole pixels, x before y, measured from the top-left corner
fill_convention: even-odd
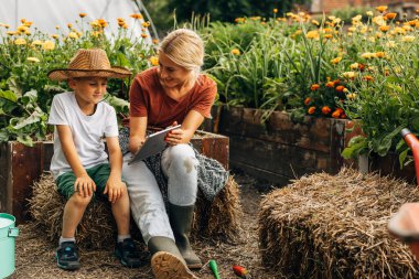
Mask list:
[[[14,238],[19,235],[14,222],[14,216],[0,213],[0,278],[14,272]]]

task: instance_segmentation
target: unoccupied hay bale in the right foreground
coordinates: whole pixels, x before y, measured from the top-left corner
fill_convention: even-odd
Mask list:
[[[401,204],[418,201],[413,185],[351,169],[301,178],[261,202],[262,262],[289,278],[419,278],[387,230]]]

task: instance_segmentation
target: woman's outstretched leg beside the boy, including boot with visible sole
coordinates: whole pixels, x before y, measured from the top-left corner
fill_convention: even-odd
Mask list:
[[[196,278],[186,267],[175,243],[164,201],[154,175],[140,161],[123,158],[122,179],[128,185],[131,213],[150,253],[157,279]]]

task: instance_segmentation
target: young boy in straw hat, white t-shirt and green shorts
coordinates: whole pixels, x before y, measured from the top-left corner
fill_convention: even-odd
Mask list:
[[[111,67],[103,50],[79,50],[68,68],[51,71],[53,81],[67,81],[73,92],[54,96],[49,124],[54,125],[54,155],[51,171],[58,192],[68,198],[55,258],[60,268],[79,268],[75,230],[96,195],[106,195],[118,227],[116,257],[123,266],[138,267],[139,254],[129,234],[129,197],[121,181],[122,155],[118,143],[115,109],[106,104],[107,79],[130,75]],[[108,155],[103,138],[106,138]]]

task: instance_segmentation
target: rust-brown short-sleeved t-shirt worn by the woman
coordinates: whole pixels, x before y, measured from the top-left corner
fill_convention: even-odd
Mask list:
[[[160,128],[171,126],[173,121],[182,124],[190,110],[211,118],[211,107],[217,93],[213,79],[200,75],[192,89],[175,100],[164,93],[157,71],[157,67],[152,67],[136,76],[129,92],[130,116],[147,117],[149,126]]]

